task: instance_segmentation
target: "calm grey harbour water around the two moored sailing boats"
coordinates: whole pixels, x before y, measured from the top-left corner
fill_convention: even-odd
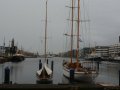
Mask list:
[[[53,66],[53,84],[69,84],[69,80],[63,76],[63,60],[66,58],[53,57],[48,59],[48,66]],[[39,60],[44,62],[44,58],[26,58],[22,62],[6,62],[0,64],[0,84],[4,82],[4,70],[10,68],[10,81],[13,84],[36,84],[36,71],[39,69]],[[119,85],[120,63],[100,62],[99,75],[95,78],[94,83]],[[79,82],[77,82],[79,83]]]

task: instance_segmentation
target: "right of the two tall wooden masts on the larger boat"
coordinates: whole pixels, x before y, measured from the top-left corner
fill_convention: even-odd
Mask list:
[[[78,20],[77,20],[77,51],[76,51],[76,58],[77,58],[77,68],[79,65],[79,33],[80,33],[80,0],[78,0]]]

